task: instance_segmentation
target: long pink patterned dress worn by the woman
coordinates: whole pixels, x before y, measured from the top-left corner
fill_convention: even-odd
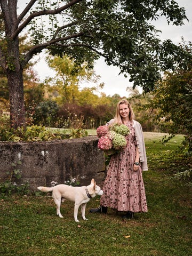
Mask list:
[[[129,121],[127,126],[127,146],[111,156],[100,204],[118,211],[147,212],[141,166],[133,172],[137,146],[133,122]]]

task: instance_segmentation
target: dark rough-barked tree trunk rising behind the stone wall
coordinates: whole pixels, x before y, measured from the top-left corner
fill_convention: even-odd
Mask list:
[[[0,63],[7,75],[10,99],[10,125],[14,129],[26,127],[22,75],[24,66],[22,60],[24,57],[21,57],[19,52],[19,35],[15,34],[15,31],[18,29],[17,2],[17,0],[0,2],[6,35],[3,41],[1,41]]]

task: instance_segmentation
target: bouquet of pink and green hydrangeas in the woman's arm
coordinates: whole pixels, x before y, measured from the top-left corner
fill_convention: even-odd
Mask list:
[[[105,151],[106,163],[110,161],[111,155],[118,153],[127,145],[126,135],[130,133],[125,124],[103,125],[97,129],[99,138],[98,148]]]

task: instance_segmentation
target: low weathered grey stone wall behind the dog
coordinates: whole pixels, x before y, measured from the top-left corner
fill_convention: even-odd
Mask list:
[[[97,143],[97,136],[46,142],[0,141],[0,182],[20,160],[20,182],[29,181],[33,190],[50,187],[51,181],[63,183],[70,177],[77,178],[80,186],[89,185],[92,178],[99,184],[105,178],[105,158]]]

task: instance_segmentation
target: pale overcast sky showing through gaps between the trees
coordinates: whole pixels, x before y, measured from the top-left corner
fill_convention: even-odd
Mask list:
[[[181,42],[181,37],[185,41],[192,41],[192,0],[175,0],[180,7],[185,7],[186,15],[189,19],[189,22],[186,20],[185,25],[183,26],[172,26],[167,25],[166,19],[163,17],[156,21],[154,24],[157,29],[162,31],[161,38],[171,39],[174,43]],[[26,1],[25,1],[26,2]],[[34,69],[37,71],[39,78],[43,82],[44,78],[47,76],[53,76],[54,72],[50,70],[45,61],[44,55],[40,55],[41,60],[34,66]],[[103,58],[99,59],[95,63],[94,67],[95,73],[101,76],[100,83],[105,83],[100,92],[106,93],[106,95],[113,96],[115,93],[118,93],[121,97],[128,97],[126,92],[127,87],[132,87],[132,83],[129,82],[129,78],[125,78],[124,75],[118,75],[119,69],[113,66],[107,66]],[[93,86],[92,84],[83,84],[81,87]],[[141,88],[139,89],[141,91]]]

